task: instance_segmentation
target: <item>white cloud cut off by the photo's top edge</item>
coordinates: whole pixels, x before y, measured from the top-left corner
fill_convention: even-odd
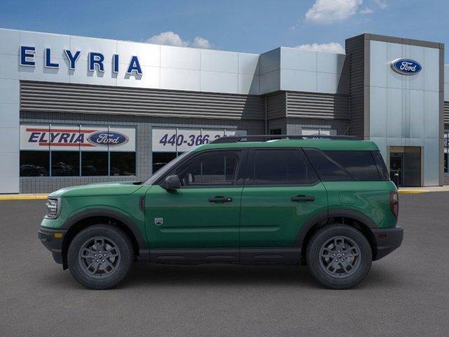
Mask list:
[[[342,22],[357,13],[362,0],[316,0],[306,13],[306,21],[329,24]]]

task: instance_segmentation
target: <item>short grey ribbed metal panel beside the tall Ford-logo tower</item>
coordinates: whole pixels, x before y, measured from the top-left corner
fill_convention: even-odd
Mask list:
[[[349,96],[288,91],[287,117],[349,119]]]

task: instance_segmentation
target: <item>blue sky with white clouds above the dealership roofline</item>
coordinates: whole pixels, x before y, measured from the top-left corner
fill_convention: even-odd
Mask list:
[[[279,46],[344,53],[363,32],[445,44],[447,0],[0,1],[0,27],[264,53]]]

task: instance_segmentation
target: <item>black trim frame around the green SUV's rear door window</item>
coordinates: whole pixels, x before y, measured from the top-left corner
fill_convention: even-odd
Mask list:
[[[302,158],[304,159],[304,161],[306,162],[306,164],[309,166],[309,169],[311,169],[311,171],[314,173],[316,180],[313,183],[309,183],[309,184],[305,184],[305,183],[289,183],[289,184],[281,184],[281,183],[274,183],[274,184],[255,184],[254,183],[254,178],[251,178],[251,174],[250,171],[255,167],[255,152],[257,151],[266,151],[266,150],[290,150],[290,151],[297,151],[297,153],[301,156],[302,154]],[[254,177],[254,171],[252,172],[252,177]],[[273,149],[270,148],[264,148],[264,147],[260,147],[260,148],[249,148],[248,149],[248,157],[247,157],[247,161],[246,161],[246,172],[245,172],[245,178],[243,180],[243,185],[244,187],[267,187],[267,186],[271,186],[271,187],[287,187],[287,186],[314,186],[316,184],[321,183],[321,178],[318,175],[318,173],[316,173],[316,170],[314,168],[314,166],[311,165],[311,162],[309,160],[309,158],[307,157],[307,155],[304,153],[304,150],[302,149],[302,147],[276,147]]]

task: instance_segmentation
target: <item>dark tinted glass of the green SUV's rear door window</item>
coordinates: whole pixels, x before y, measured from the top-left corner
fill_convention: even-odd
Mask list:
[[[318,178],[301,150],[255,150],[250,180],[255,185],[309,185]]]

